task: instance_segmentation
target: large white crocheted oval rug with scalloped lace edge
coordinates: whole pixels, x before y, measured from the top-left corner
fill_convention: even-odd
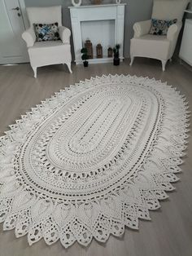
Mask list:
[[[138,228],[178,180],[188,116],[147,77],[91,78],[41,102],[0,138],[3,229],[68,247]]]

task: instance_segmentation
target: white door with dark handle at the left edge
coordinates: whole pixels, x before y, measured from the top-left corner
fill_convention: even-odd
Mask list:
[[[0,64],[28,62],[21,34],[28,28],[24,0],[0,0]]]

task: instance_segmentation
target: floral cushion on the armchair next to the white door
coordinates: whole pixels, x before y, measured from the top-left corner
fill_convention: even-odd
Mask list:
[[[52,24],[33,24],[33,26],[37,42],[60,40],[57,22]]]

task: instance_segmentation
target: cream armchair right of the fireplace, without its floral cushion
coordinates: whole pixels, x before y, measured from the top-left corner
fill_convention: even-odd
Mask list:
[[[168,60],[172,59],[177,38],[182,26],[182,17],[189,0],[154,1],[152,18],[158,20],[177,19],[176,24],[168,28],[167,36],[151,35],[151,20],[137,22],[133,25],[134,37],[130,46],[130,65],[134,57],[147,57],[161,60],[163,71]]]

